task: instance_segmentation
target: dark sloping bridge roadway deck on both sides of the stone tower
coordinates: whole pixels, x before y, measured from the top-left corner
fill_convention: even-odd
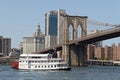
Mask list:
[[[104,30],[99,33],[89,34],[77,40],[71,40],[69,41],[69,45],[73,46],[76,44],[91,44],[97,41],[106,40],[106,39],[115,38],[115,37],[120,37],[120,27]],[[39,53],[47,53],[47,52],[54,51],[55,49],[57,51],[62,50],[62,45],[55,45]]]

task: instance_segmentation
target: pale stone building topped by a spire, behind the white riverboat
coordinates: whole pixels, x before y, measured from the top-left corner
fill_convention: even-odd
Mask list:
[[[37,53],[44,49],[45,35],[38,24],[36,32],[31,37],[24,37],[21,43],[23,53]]]

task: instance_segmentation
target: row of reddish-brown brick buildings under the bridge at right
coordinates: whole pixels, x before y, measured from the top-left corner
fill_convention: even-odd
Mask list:
[[[89,59],[102,59],[102,60],[120,60],[120,44],[116,46],[98,47],[94,45],[88,45],[87,55]]]

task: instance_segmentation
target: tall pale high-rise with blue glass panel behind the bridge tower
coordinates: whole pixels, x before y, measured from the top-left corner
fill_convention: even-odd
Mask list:
[[[63,15],[65,10],[49,11],[45,14],[45,48],[63,41]]]

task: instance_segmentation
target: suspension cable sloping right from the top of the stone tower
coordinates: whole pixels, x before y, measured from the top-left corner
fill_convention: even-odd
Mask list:
[[[88,19],[87,23],[90,23],[92,25],[99,25],[99,26],[106,26],[106,27],[120,27],[120,24],[109,24],[109,23],[105,23],[105,22],[99,22],[93,19]]]

